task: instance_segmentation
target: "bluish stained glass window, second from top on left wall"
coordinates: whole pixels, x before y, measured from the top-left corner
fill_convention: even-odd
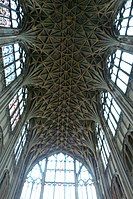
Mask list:
[[[6,85],[18,77],[24,67],[26,53],[18,43],[2,47],[2,57]]]

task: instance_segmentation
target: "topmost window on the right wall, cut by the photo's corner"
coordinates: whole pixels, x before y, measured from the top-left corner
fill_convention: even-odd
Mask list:
[[[119,10],[115,29],[119,35],[133,35],[133,0],[127,0]]]

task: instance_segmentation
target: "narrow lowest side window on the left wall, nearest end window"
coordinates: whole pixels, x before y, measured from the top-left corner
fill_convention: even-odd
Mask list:
[[[19,158],[22,154],[23,148],[25,146],[28,129],[29,129],[29,123],[25,123],[25,125],[23,126],[20,132],[18,140],[16,142],[15,149],[14,149],[14,156],[15,156],[16,164],[18,163]]]

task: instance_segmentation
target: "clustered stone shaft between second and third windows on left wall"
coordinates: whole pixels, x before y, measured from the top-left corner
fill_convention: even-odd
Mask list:
[[[8,106],[13,96],[22,87],[23,75],[21,74],[9,86],[7,86],[0,94],[0,114]]]

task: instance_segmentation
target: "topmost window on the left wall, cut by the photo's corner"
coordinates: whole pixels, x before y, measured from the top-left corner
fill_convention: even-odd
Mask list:
[[[0,0],[0,26],[20,28],[23,11],[19,0]]]

